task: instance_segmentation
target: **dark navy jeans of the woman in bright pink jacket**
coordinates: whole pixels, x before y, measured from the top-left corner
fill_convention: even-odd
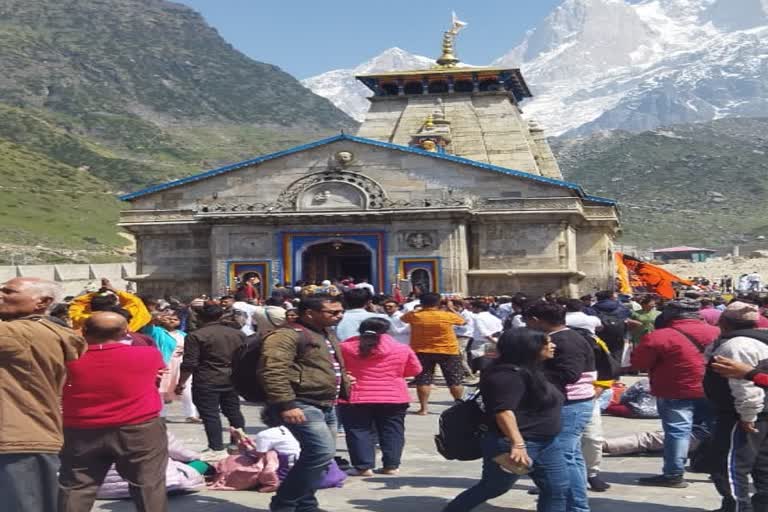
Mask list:
[[[371,435],[375,430],[384,469],[400,467],[408,404],[345,404],[339,410],[353,466],[361,471],[376,467],[376,439]]]

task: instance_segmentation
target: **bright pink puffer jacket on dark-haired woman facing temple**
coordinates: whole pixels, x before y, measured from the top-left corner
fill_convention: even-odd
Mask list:
[[[398,343],[387,334],[368,357],[360,357],[360,337],[341,344],[347,371],[357,381],[352,386],[352,404],[407,404],[411,401],[405,377],[421,373],[421,363],[408,345]]]

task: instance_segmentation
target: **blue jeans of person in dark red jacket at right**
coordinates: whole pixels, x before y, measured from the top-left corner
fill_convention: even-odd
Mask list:
[[[664,430],[664,476],[675,478],[685,474],[685,461],[694,423],[709,423],[709,403],[705,398],[659,398],[656,407]]]

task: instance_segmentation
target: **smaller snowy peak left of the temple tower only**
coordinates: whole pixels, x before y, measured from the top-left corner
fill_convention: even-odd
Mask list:
[[[435,65],[435,60],[421,55],[414,55],[394,47],[380,53],[369,61],[352,69],[335,69],[321,75],[302,80],[301,83],[315,94],[331,102],[358,121],[365,119],[368,111],[368,98],[373,93],[366,86],[355,80],[356,75],[379,73],[382,71],[405,71],[425,69]]]

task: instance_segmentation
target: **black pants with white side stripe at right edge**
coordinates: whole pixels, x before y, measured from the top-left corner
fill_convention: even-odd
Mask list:
[[[755,427],[757,433],[747,433],[735,416],[717,417],[710,460],[716,461],[712,481],[723,497],[723,512],[768,512],[768,418],[759,418]]]

